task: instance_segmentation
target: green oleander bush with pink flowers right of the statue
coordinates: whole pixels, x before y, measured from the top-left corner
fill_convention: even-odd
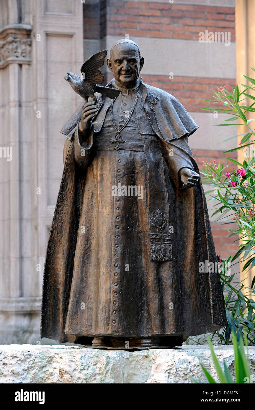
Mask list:
[[[204,162],[201,178],[209,189],[206,193],[215,201],[213,216],[216,221],[224,220],[229,236],[233,242],[239,243],[237,253],[230,255],[228,260],[221,260],[217,255],[228,326],[212,333],[211,339],[220,344],[232,344],[234,337],[239,343],[243,343],[245,338],[249,345],[255,346],[255,276],[251,287],[247,288],[233,272],[234,266],[241,266],[246,275],[248,269],[255,266],[255,129],[250,126],[253,121],[255,124],[255,119],[247,118],[248,112],[254,112],[255,116],[255,79],[244,77],[250,85],[237,85],[232,92],[225,85],[212,90],[214,100],[205,100],[221,104],[222,108],[217,108],[217,111],[228,114],[219,126],[244,125],[246,131],[232,137],[241,137],[241,142],[238,147],[226,151],[230,155],[228,164],[217,164],[216,160],[213,164]],[[247,101],[251,104],[248,105]],[[215,111],[213,107],[204,109]],[[242,164],[231,158],[231,153],[240,149],[246,158]],[[204,344],[207,340],[203,335],[189,338],[187,342]]]

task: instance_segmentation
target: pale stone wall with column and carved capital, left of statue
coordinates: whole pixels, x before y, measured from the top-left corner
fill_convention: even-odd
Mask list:
[[[64,75],[83,62],[82,2],[4,0],[0,16],[0,343],[35,343],[59,131],[80,104]]]

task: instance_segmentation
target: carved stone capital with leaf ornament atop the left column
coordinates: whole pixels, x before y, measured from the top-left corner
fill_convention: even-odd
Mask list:
[[[19,25],[15,25],[19,26]],[[10,63],[30,64],[31,44],[29,28],[7,26],[0,33],[0,68]]]

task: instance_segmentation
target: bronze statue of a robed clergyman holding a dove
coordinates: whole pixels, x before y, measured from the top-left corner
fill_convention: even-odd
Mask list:
[[[180,346],[227,324],[187,143],[198,126],[175,97],[143,83],[144,60],[131,40],[114,44],[114,79],[98,89],[100,53],[84,63],[82,79],[66,76],[85,102],[61,130],[41,337],[99,348]],[[216,268],[201,273],[200,262]]]

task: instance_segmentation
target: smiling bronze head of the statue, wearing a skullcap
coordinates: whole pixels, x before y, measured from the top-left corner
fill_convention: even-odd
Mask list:
[[[135,86],[144,59],[139,47],[132,40],[118,40],[111,48],[107,67],[112,71],[116,85],[127,89]]]

